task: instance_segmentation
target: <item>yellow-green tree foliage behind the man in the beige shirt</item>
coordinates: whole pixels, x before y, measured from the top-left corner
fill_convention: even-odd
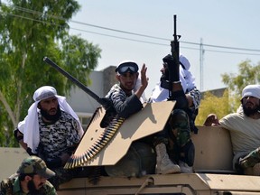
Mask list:
[[[243,88],[249,84],[257,84],[260,80],[260,64],[252,65],[250,62],[245,60],[238,64],[238,74],[222,75],[222,82],[228,86],[223,97],[218,98],[209,92],[204,94],[196,118],[197,125],[203,125],[206,117],[211,113],[217,114],[220,119],[229,113],[237,112]]]

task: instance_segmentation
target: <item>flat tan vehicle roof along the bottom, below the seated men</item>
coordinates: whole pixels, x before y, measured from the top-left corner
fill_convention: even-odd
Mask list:
[[[97,185],[78,178],[61,185],[59,194],[260,194],[259,186],[257,176],[181,173],[131,179],[101,177]]]

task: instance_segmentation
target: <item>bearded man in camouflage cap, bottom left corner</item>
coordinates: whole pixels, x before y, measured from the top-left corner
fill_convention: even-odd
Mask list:
[[[0,195],[56,195],[55,188],[47,181],[54,175],[55,172],[48,169],[41,158],[29,156],[23,160],[17,173],[1,181]]]

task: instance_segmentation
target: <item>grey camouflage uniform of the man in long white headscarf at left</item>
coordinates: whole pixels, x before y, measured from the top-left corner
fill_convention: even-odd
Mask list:
[[[61,183],[70,181],[78,174],[78,169],[66,170],[60,162],[62,153],[70,155],[79,144],[80,135],[78,123],[70,114],[61,111],[61,116],[54,124],[46,125],[38,113],[41,141],[38,146],[38,155],[47,163],[48,167],[56,173],[49,181],[56,189]]]

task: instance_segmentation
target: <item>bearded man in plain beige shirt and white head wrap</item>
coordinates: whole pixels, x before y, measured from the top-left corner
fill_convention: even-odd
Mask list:
[[[237,113],[224,116],[219,121],[215,116],[216,120],[211,120],[211,124],[208,124],[220,125],[229,130],[234,153],[233,164],[239,173],[260,175],[259,110],[260,85],[248,85],[242,91],[241,107]]]

